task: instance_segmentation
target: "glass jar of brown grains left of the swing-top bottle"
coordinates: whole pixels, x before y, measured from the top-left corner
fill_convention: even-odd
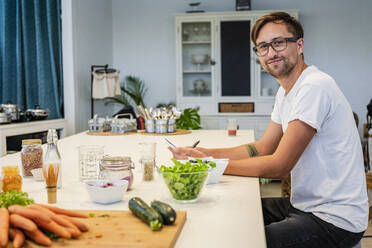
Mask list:
[[[43,168],[43,149],[41,139],[22,140],[22,173],[24,177],[32,176],[31,170]]]

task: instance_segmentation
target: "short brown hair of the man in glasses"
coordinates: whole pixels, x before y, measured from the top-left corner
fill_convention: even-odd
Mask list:
[[[292,33],[295,38],[299,39],[304,37],[304,29],[302,28],[301,23],[296,20],[296,18],[290,16],[286,12],[271,12],[258,19],[252,28],[251,39],[255,45],[257,45],[256,40],[262,27],[270,22],[283,22],[287,25],[288,32]]]

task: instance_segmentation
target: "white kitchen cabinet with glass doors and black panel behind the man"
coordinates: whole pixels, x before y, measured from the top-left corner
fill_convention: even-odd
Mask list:
[[[298,18],[297,10],[285,11]],[[250,32],[269,12],[175,16],[177,106],[199,107],[204,129],[224,129],[234,117],[256,139],[263,135],[279,84],[259,64]]]

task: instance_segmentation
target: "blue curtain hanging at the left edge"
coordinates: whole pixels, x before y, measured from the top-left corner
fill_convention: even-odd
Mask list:
[[[0,0],[0,103],[63,117],[61,0]]]

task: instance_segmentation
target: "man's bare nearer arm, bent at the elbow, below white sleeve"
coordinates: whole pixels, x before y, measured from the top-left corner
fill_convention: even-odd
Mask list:
[[[285,178],[295,166],[315,133],[316,130],[306,123],[300,120],[291,121],[273,154],[230,160],[225,174]],[[266,152],[270,151],[272,150]]]

